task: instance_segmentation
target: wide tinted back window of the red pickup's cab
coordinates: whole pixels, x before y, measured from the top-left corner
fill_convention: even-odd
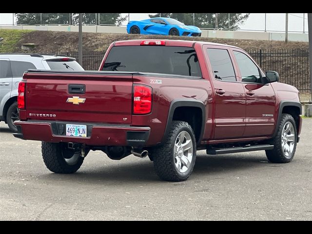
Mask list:
[[[102,70],[201,77],[195,49],[180,46],[115,46]]]

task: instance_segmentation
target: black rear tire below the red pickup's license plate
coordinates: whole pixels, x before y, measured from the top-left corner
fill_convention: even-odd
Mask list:
[[[84,159],[81,157],[80,152],[75,154],[74,150],[68,149],[66,143],[50,143],[42,141],[41,152],[45,166],[51,172],[60,174],[77,172]],[[71,159],[73,160],[69,161]]]

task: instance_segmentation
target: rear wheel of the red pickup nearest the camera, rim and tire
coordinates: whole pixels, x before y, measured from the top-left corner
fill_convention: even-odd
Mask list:
[[[166,142],[153,150],[156,174],[167,181],[184,181],[192,173],[196,159],[196,142],[192,127],[173,121]]]

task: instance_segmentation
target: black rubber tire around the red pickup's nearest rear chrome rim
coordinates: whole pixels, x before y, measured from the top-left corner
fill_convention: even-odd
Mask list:
[[[188,170],[181,173],[176,168],[176,159],[174,153],[174,146],[177,137],[183,131],[187,132],[192,139],[193,155]],[[173,121],[172,127],[166,142],[157,148],[153,149],[153,161],[156,174],[166,181],[184,181],[192,174],[196,160],[196,141],[192,127],[183,121]],[[183,166],[182,166],[183,167]]]

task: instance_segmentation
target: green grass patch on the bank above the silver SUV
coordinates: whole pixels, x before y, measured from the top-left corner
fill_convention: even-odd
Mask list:
[[[18,30],[18,29],[0,29],[0,53],[14,53],[19,51],[18,42],[27,33],[33,30]]]

